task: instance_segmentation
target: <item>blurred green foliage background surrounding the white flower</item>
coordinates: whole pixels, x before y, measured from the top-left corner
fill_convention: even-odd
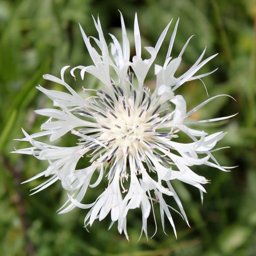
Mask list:
[[[82,227],[85,210],[75,209],[57,215],[56,210],[65,199],[60,185],[52,185],[35,196],[28,195],[29,189],[42,180],[20,185],[44,170],[46,163],[31,156],[9,154],[14,147],[27,146],[13,141],[13,138],[22,137],[20,127],[28,133],[39,131],[43,118],[36,117],[34,109],[51,105],[35,86],[40,83],[47,88],[57,88],[57,85],[43,81],[42,75],[57,76],[60,68],[67,64],[90,63],[77,23],[82,24],[88,35],[96,36],[90,15],[99,14],[106,37],[108,32],[120,35],[118,9],[125,17],[131,37],[137,11],[144,46],[154,45],[168,21],[179,16],[175,54],[191,34],[196,35],[184,54],[180,72],[187,69],[207,45],[207,56],[219,52],[201,71],[219,67],[204,79],[209,95],[227,93],[237,100],[220,98],[195,116],[218,117],[239,112],[229,121],[204,126],[209,133],[228,131],[219,146],[232,148],[216,155],[224,166],[238,167],[229,173],[206,166],[196,169],[212,180],[206,185],[208,193],[203,205],[196,189],[174,183],[191,225],[191,228],[186,226],[174,213],[177,240],[168,227],[169,236],[159,228],[154,238],[147,241],[142,237],[137,242],[141,231],[139,210],[129,216],[130,242],[118,234],[116,226],[107,230],[109,220],[96,222],[90,233],[86,232]],[[1,255],[256,255],[254,0],[1,0],[0,36]],[[160,50],[160,64],[168,43],[167,39]],[[87,87],[97,85],[92,78],[84,82],[70,81],[77,90],[81,90],[83,84]],[[149,77],[147,84],[154,84],[154,80]],[[201,81],[188,82],[179,93],[188,101],[188,109],[207,98]],[[93,196],[89,193],[88,200]],[[159,221],[159,216],[156,217]],[[148,221],[148,230],[154,233],[153,218]]]

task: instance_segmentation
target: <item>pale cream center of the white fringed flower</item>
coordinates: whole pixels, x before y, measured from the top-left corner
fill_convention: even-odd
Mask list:
[[[102,139],[110,141],[108,147],[117,148],[117,155],[136,154],[151,141],[154,132],[150,121],[151,114],[144,107],[134,104],[118,104],[114,111],[108,112],[107,118],[100,118]]]

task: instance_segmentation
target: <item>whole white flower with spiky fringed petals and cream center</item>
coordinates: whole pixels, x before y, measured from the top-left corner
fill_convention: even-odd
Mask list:
[[[230,168],[222,167],[212,155],[213,151],[220,149],[213,150],[213,147],[225,133],[208,135],[203,130],[194,130],[187,126],[189,123],[213,122],[232,117],[233,115],[230,115],[201,121],[188,119],[209,101],[224,95],[208,98],[187,112],[183,96],[174,93],[184,82],[209,75],[207,73],[195,76],[195,73],[216,56],[210,56],[202,61],[204,49],[195,64],[183,75],[176,77],[175,72],[190,39],[179,56],[172,58],[178,22],[179,20],[171,36],[163,66],[155,64],[156,86],[152,93],[144,85],[144,80],[171,22],[160,35],[155,47],[145,47],[150,53],[150,58],[142,59],[137,15],[134,22],[136,55],[132,57],[132,61],[122,15],[122,45],[114,35],[110,35],[113,40],[110,52],[99,19],[97,22],[94,20],[98,39],[88,38],[80,26],[93,65],[72,68],[71,75],[75,77],[75,69],[80,69],[82,79],[85,73],[97,77],[101,82],[101,88],[92,90],[93,96],[81,97],[64,81],[64,72],[69,66],[61,69],[60,79],[52,75],[43,76],[46,80],[63,85],[68,93],[38,87],[59,109],[36,110],[36,113],[49,117],[41,127],[44,131],[32,135],[23,131],[25,138],[22,140],[30,142],[32,147],[14,152],[48,160],[47,170],[30,180],[40,176],[49,177],[46,182],[35,188],[34,193],[47,188],[57,180],[61,181],[63,188],[68,192],[68,200],[60,213],[69,212],[75,207],[90,209],[85,217],[85,226],[92,225],[96,219],[103,220],[110,213],[110,226],[117,221],[119,233],[124,232],[129,239],[126,230],[126,216],[129,210],[141,208],[142,233],[147,236],[147,218],[151,212],[155,216],[156,205],[154,207],[153,203],[156,203],[159,205],[163,229],[164,216],[167,216],[176,236],[171,215],[171,210],[175,209],[166,203],[163,195],[173,197],[179,213],[187,223],[188,220],[171,181],[177,179],[195,186],[203,200],[203,184],[208,183],[208,180],[195,174],[192,171],[193,166],[205,164],[222,171]],[[90,40],[94,40],[98,51]],[[84,92],[87,93],[88,90],[84,89]],[[77,146],[63,148],[35,141],[35,138],[44,135],[50,135],[50,141],[55,141],[68,132],[78,137]],[[187,134],[191,138],[191,143],[178,142],[180,133]],[[86,156],[90,158],[91,166],[77,170],[77,162]],[[98,179],[91,184],[93,174],[98,174]],[[104,184],[108,185],[96,201],[90,204],[81,203],[88,187],[92,189],[104,182],[102,180],[107,180]]]

